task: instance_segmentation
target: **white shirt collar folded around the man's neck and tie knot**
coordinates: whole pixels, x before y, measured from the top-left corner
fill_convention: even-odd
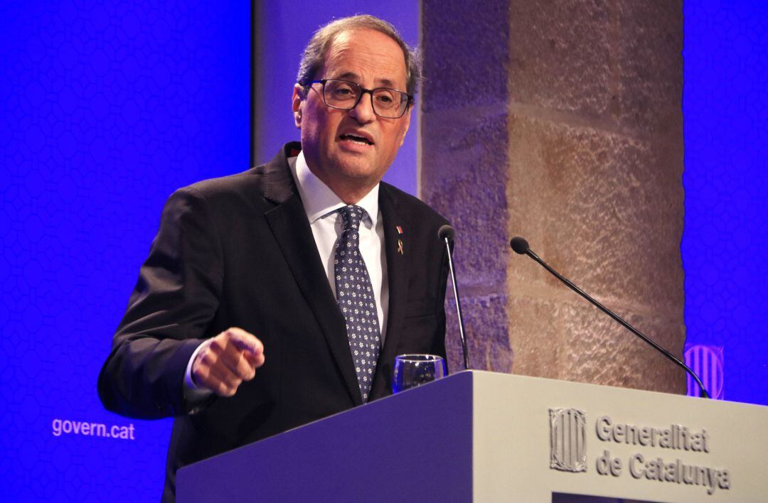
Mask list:
[[[289,158],[288,164],[296,187],[299,189],[299,196],[301,196],[310,225],[317,219],[346,206],[346,203],[339,199],[339,196],[336,196],[336,192],[329,189],[322,180],[310,171],[310,166],[306,165],[303,152],[300,152],[297,157]],[[356,204],[366,210],[373,228],[376,228],[376,221],[379,219],[379,184],[377,183]]]

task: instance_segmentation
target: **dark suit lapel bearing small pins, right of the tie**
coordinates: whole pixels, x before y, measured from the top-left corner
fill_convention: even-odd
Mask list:
[[[389,313],[387,314],[384,347],[379,355],[379,363],[376,365],[376,377],[373,385],[376,391],[386,393],[384,390],[389,386],[389,381],[392,379],[392,362],[395,360],[398,340],[402,333],[400,327],[407,301],[409,261],[406,259],[408,250],[406,232],[408,225],[400,215],[398,201],[384,183],[379,186],[379,209],[381,209],[384,220]]]

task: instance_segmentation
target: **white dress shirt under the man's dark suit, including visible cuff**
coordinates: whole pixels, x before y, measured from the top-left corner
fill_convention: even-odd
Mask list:
[[[293,181],[296,182],[296,187],[299,189],[306,218],[310,222],[310,228],[312,228],[320,261],[326,271],[333,295],[336,296],[333,259],[336,255],[336,242],[339,241],[344,230],[342,219],[339,218],[339,212],[336,210],[346,206],[346,203],[310,171],[310,166],[306,165],[303,152],[300,152],[299,156],[289,157],[288,164],[293,175]],[[362,259],[366,261],[373,294],[376,297],[376,311],[379,314],[379,329],[381,330],[381,344],[383,346],[384,334],[386,334],[386,315],[389,311],[389,284],[387,282],[384,248],[384,222],[381,212],[379,212],[379,185],[373,187],[356,204],[365,209],[367,213],[359,228],[359,248]],[[259,337],[259,334],[253,335]],[[212,393],[209,390],[197,388],[192,380],[192,363],[200,349],[201,346],[198,346],[197,350],[192,353],[184,376],[184,394],[188,400],[193,401]],[[264,352],[268,351],[269,348],[265,347]]]

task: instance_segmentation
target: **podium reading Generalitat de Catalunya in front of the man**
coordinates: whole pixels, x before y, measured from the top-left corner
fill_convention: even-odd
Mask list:
[[[768,407],[465,371],[181,468],[177,501],[768,501]]]

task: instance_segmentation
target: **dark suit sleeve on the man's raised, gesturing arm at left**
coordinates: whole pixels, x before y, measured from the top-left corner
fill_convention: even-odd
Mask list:
[[[206,199],[180,189],[167,200],[160,229],[101,369],[101,402],[123,416],[187,413],[184,372],[208,337],[223,278],[220,237]]]

